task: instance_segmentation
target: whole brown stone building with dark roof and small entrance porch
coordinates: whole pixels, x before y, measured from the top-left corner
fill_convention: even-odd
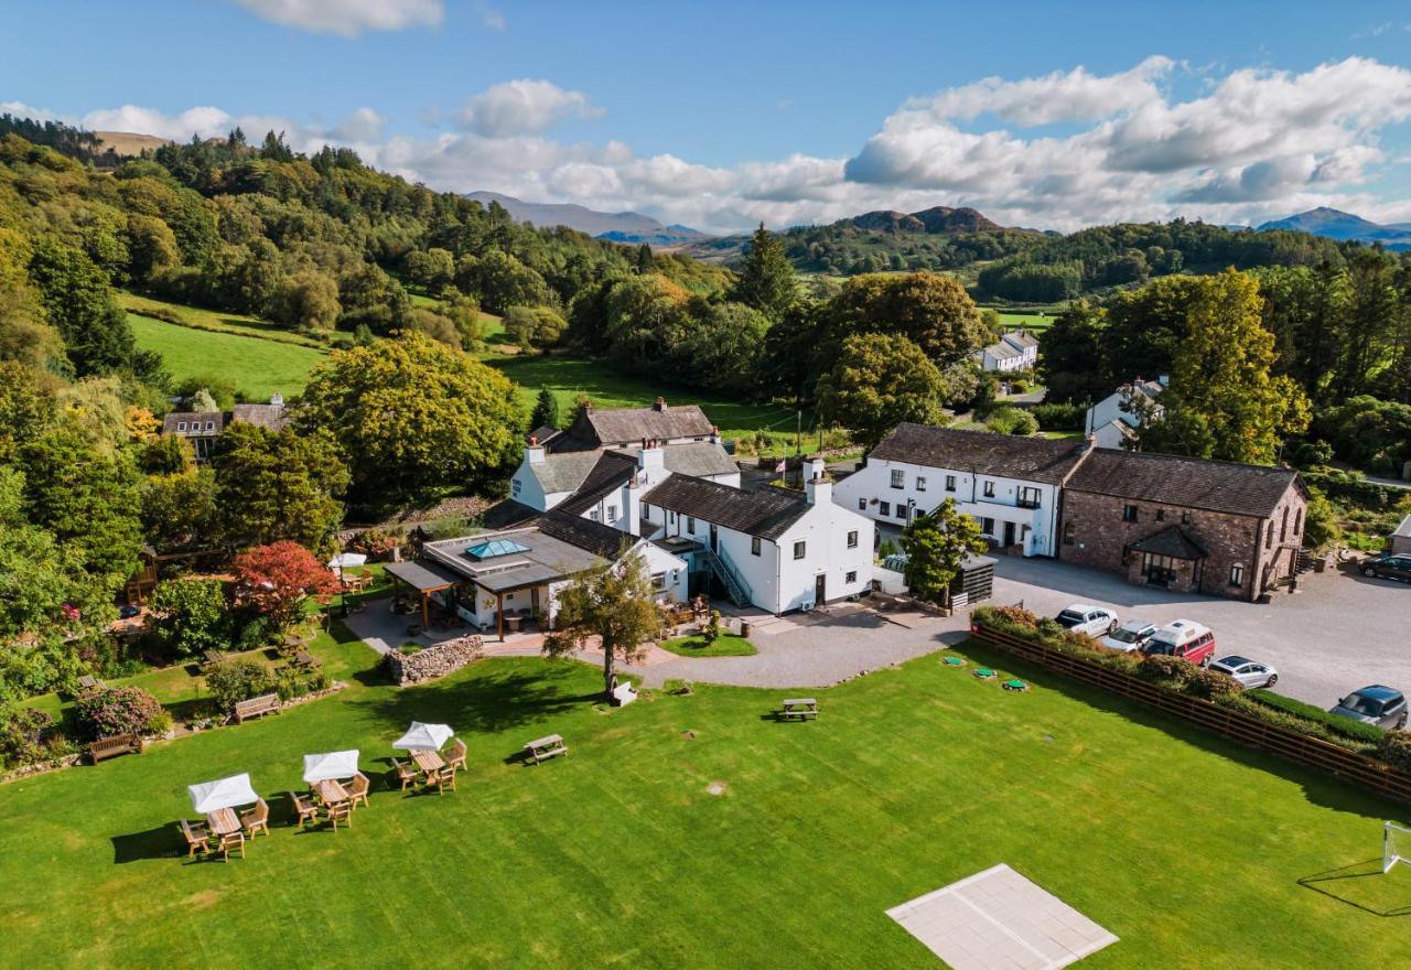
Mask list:
[[[1297,575],[1307,501],[1288,468],[1096,448],[1064,486],[1058,558],[1253,601]]]

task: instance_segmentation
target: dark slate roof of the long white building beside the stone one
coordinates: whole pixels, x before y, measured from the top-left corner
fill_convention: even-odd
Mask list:
[[[1060,484],[1082,461],[1084,443],[902,423],[868,460],[975,471],[1030,482]]]

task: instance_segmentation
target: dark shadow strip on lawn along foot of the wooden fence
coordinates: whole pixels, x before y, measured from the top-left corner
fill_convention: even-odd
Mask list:
[[[943,643],[945,637],[947,634],[937,636],[937,643]],[[1057,691],[1099,711],[1119,713],[1133,723],[1156,728],[1171,737],[1194,744],[1212,754],[1292,781],[1304,790],[1304,797],[1315,805],[1332,808],[1339,812],[1352,812],[1363,818],[1377,819],[1379,822],[1394,818],[1403,808],[1393,808],[1395,802],[1377,794],[1357,790],[1352,781],[1342,781],[1312,768],[1284,761],[1268,751],[1246,747],[1232,739],[1149,708],[1144,704],[1127,701],[1116,694],[1089,687],[1055,671],[1020,660],[1013,654],[988,647],[976,640],[967,640],[959,644],[945,643],[945,646],[954,653],[964,654],[972,663],[979,663],[998,671],[1012,671],[1015,677],[1027,681],[1033,687]]]

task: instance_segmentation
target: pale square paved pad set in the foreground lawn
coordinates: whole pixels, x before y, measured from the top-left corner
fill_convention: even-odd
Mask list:
[[[1003,863],[886,915],[954,970],[1057,970],[1118,942]]]

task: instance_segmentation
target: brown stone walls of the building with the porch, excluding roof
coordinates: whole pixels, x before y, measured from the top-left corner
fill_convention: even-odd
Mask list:
[[[1137,506],[1136,522],[1123,519],[1127,505]],[[1302,540],[1304,496],[1290,488],[1273,519],[1185,509],[1113,495],[1065,491],[1058,534],[1058,558],[1118,572],[1143,585],[1141,554],[1127,554],[1127,546],[1180,526],[1209,555],[1197,564],[1182,564],[1174,589],[1211,596],[1256,599],[1277,579],[1292,575]],[[1284,527],[1287,509],[1288,524]],[[1243,567],[1239,582],[1233,568]]]

